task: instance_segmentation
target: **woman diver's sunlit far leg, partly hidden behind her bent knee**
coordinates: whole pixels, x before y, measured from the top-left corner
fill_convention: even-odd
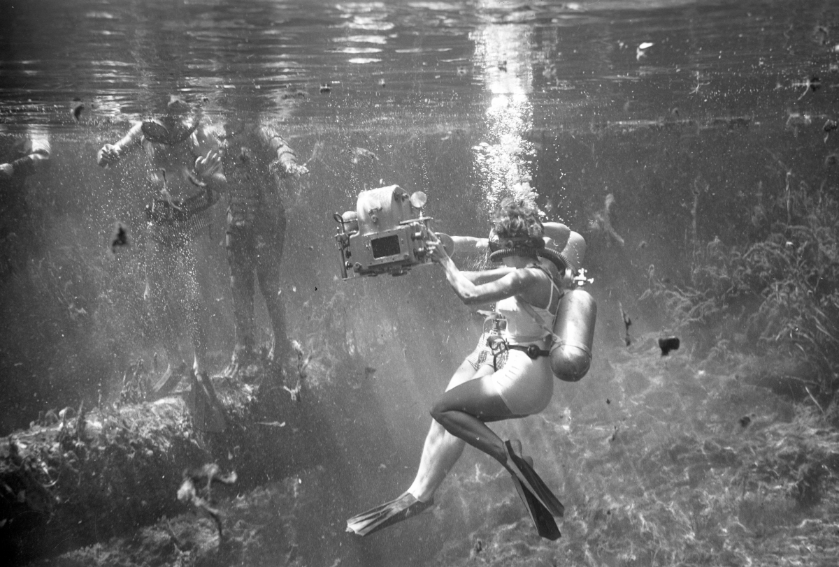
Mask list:
[[[492,367],[482,366],[476,372],[472,364],[464,360],[451,377],[448,387],[453,389],[487,374],[492,374]],[[425,437],[425,446],[420,457],[420,468],[408,492],[421,502],[429,502],[451,467],[455,466],[464,446],[466,446],[465,441],[451,435],[436,420],[431,421],[431,429]]]

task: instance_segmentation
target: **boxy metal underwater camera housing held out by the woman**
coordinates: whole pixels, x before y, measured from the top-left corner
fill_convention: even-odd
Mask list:
[[[431,218],[423,216],[425,200],[422,191],[409,195],[399,185],[388,185],[362,191],[356,210],[336,213],[341,278],[403,276],[414,265],[430,263]],[[451,253],[451,238],[437,236]]]

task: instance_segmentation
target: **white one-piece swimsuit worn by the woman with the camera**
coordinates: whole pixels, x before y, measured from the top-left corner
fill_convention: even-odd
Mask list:
[[[507,360],[487,379],[492,381],[495,391],[515,415],[533,415],[545,410],[554,394],[554,374],[548,356],[551,336],[542,324],[554,320],[562,295],[563,291],[551,277],[548,307],[528,304],[541,321],[521,307],[524,301],[518,296],[507,297],[495,306],[495,310],[507,319],[507,330],[501,335],[507,342]],[[486,341],[486,338],[482,339]],[[539,352],[532,358],[528,351],[533,353],[534,349]],[[476,353],[478,349],[470,358]],[[488,357],[486,363],[491,363]]]

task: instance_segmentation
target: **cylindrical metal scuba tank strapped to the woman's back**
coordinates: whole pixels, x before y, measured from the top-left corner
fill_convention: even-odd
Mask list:
[[[572,232],[560,255],[576,273],[586,255],[586,240]],[[597,303],[591,294],[579,288],[565,291],[556,310],[550,347],[550,369],[557,379],[576,382],[588,372],[596,319]]]

